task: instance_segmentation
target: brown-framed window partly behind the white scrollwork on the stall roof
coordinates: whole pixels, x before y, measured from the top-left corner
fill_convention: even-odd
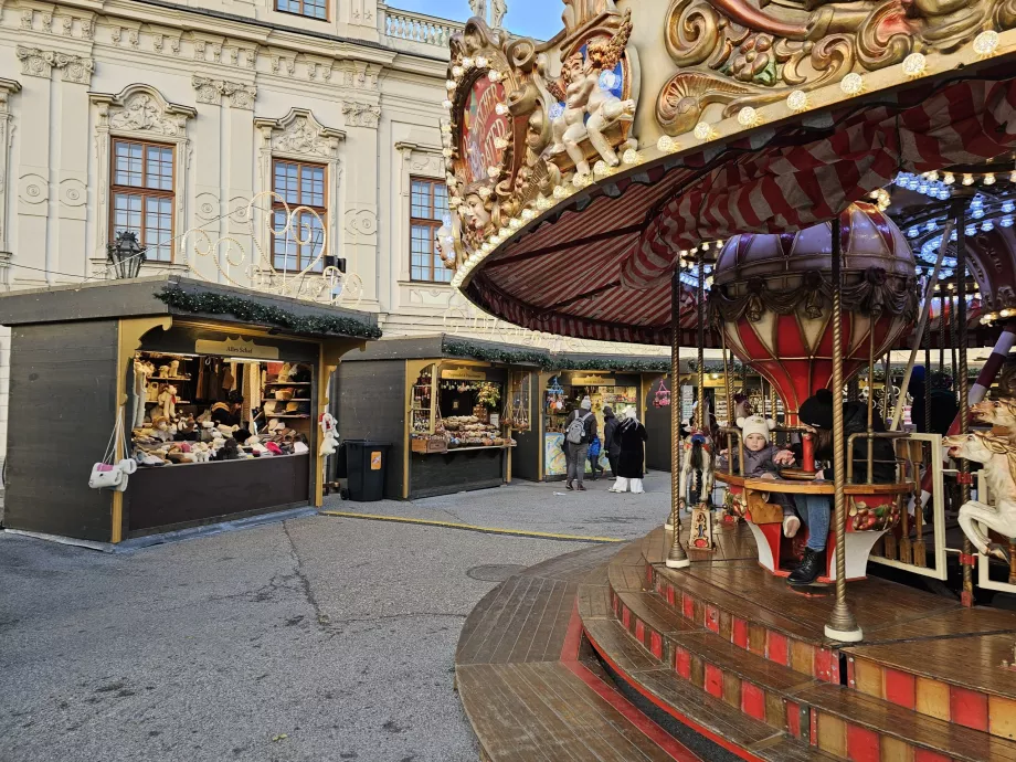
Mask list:
[[[325,268],[322,247],[325,245],[325,174],[321,165],[307,165],[300,161],[276,159],[273,165],[272,190],[282,199],[273,197],[273,224],[276,235],[272,236],[272,263],[275,269],[298,273],[311,264],[313,271],[320,273]],[[292,213],[297,207],[307,209],[294,215],[288,232],[286,231],[286,205]]]

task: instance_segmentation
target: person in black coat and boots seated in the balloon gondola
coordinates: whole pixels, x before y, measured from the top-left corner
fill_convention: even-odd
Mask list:
[[[815,458],[818,461],[833,461],[833,392],[819,389],[815,394],[801,403],[798,417],[803,426],[815,436]],[[872,416],[871,428],[876,432],[886,431],[881,415]],[[868,431],[868,408],[862,402],[846,402],[843,406],[844,442],[851,434],[862,434]],[[794,445],[794,455],[798,462],[802,457],[802,446]],[[853,481],[864,484],[868,480],[868,441],[864,437],[854,440],[850,456],[854,462]],[[888,440],[875,440],[872,446],[872,480],[877,484],[887,484],[896,480],[896,452]],[[804,464],[802,464],[804,465]],[[818,472],[816,480],[832,480],[830,467]],[[797,512],[802,515],[808,526],[808,542],[804,549],[804,560],[787,578],[792,585],[809,585],[825,570],[826,539],[829,535],[832,514],[832,499],[828,495],[802,495],[797,501]]]

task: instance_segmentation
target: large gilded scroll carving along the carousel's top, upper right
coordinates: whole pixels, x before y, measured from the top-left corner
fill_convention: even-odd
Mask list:
[[[724,118],[777,100],[804,110],[823,85],[904,62],[908,76],[920,76],[925,53],[975,38],[988,51],[997,34],[978,33],[1014,23],[1013,0],[673,0],[664,40],[679,71],[657,96],[657,121],[678,135],[710,104]]]

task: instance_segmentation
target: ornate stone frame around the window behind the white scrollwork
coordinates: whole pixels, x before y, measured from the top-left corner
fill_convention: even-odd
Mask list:
[[[281,119],[268,119],[257,117],[254,119],[254,127],[261,133],[261,148],[258,152],[258,189],[257,193],[264,193],[266,209],[272,204],[267,202],[267,193],[272,190],[273,183],[273,163],[275,159],[288,159],[290,161],[301,161],[305,163],[325,165],[327,177],[325,178],[326,203],[328,216],[325,220],[325,229],[328,231],[328,241],[326,243],[326,254],[338,255],[341,251],[339,246],[339,193],[342,188],[342,162],[339,157],[339,144],[346,140],[346,133],[341,129],[325,127],[314,113],[308,108],[290,108],[289,113]],[[271,215],[264,211],[253,210],[258,220],[256,229],[263,232],[260,240],[268,242],[268,224]],[[272,260],[271,245],[265,244],[266,251],[258,252],[257,266],[262,266],[261,257],[267,256]]]

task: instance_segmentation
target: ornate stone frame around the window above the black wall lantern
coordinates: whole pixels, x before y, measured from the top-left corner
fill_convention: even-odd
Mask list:
[[[113,138],[157,141],[173,147],[173,231],[179,236],[188,229],[187,199],[190,195],[190,165],[193,146],[187,135],[188,120],[198,116],[192,106],[170,103],[151,85],[127,85],[118,94],[88,93],[95,113],[95,161],[100,181],[96,190],[96,230],[93,268],[105,267],[109,241],[110,161]],[[173,248],[177,248],[176,242]],[[173,263],[154,262],[150,267],[167,268]],[[177,265],[181,266],[181,265]]]

